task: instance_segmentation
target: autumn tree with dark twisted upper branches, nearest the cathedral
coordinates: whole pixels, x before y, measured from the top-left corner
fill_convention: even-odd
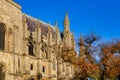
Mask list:
[[[61,57],[64,61],[70,62],[74,66],[74,79],[84,80],[87,77],[98,78],[99,68],[91,56],[93,53],[92,45],[99,37],[95,34],[87,36],[85,39],[82,37],[79,40],[80,55],[70,47],[63,47]]]

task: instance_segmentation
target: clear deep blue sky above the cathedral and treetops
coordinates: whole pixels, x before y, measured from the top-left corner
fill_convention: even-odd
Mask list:
[[[22,11],[63,30],[66,11],[75,38],[96,32],[103,39],[120,38],[120,0],[15,0]]]

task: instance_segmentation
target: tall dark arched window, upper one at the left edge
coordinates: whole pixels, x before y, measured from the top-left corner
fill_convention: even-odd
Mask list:
[[[5,26],[0,23],[0,50],[4,50],[5,42]]]

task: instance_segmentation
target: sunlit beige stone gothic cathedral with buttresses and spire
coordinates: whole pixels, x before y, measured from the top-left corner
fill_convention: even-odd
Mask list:
[[[22,13],[13,0],[0,0],[0,80],[71,80],[73,66],[58,56],[75,49],[68,14],[64,31]]]

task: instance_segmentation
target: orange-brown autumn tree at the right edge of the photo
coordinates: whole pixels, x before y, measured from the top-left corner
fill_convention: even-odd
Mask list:
[[[120,75],[120,41],[112,41],[101,46],[101,80],[116,79]]]

